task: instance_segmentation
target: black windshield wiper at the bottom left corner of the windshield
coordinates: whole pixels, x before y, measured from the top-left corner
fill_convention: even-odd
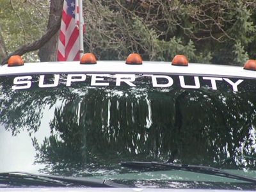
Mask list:
[[[62,177],[55,175],[36,175],[25,172],[0,173],[0,184],[7,184],[10,186],[86,186],[92,188],[128,188],[128,186],[125,186],[124,184],[117,184],[110,180],[87,179],[83,177]]]

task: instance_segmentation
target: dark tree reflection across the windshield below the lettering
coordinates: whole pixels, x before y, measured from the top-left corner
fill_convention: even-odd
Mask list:
[[[244,90],[233,92],[224,83],[218,90],[152,88],[148,78],[138,76],[136,87],[76,83],[10,92],[2,86],[0,120],[13,136],[24,128],[36,132],[45,106],[54,108],[51,136],[42,145],[33,138],[44,173],[122,172],[118,163],[133,160],[255,170],[255,82],[244,80]]]

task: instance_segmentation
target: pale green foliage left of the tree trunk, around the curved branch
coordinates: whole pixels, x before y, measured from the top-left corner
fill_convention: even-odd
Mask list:
[[[8,54],[44,35],[49,17],[47,1],[0,0],[0,7],[1,32]],[[36,52],[22,58],[26,62],[38,60]]]

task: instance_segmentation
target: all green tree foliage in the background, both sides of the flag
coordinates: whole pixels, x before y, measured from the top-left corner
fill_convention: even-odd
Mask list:
[[[44,0],[0,1],[1,29],[8,53],[45,33],[49,4]],[[255,59],[256,1],[83,1],[84,52],[98,60],[143,60],[243,65]],[[36,60],[35,52],[26,56]]]

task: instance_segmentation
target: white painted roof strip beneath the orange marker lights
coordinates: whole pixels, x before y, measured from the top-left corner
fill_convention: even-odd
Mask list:
[[[256,79],[256,71],[243,67],[189,63],[188,67],[173,66],[171,62],[143,61],[142,65],[127,65],[125,61],[97,61],[81,65],[79,61],[25,63],[19,67],[0,67],[0,76],[26,74],[177,74],[193,76],[244,77]]]

